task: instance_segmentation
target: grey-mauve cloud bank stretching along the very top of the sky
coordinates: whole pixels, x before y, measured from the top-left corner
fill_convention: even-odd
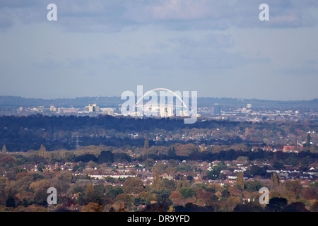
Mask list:
[[[0,27],[46,20],[49,0],[0,2]],[[260,23],[263,1],[159,0],[159,1],[63,1],[56,0],[58,23],[64,30],[119,32],[144,25],[169,30],[224,30],[237,28],[298,28],[317,25],[315,0],[268,0],[270,21]]]

